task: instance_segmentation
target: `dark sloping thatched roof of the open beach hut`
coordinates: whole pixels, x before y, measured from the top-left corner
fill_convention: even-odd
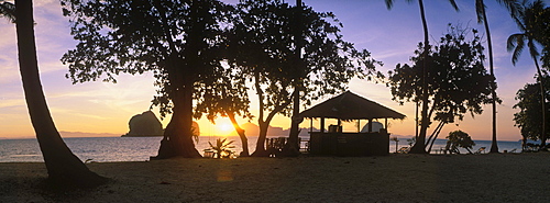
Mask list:
[[[300,117],[340,120],[405,119],[392,109],[346,91],[300,113]]]

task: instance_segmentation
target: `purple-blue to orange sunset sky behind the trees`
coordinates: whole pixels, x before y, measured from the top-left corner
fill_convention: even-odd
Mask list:
[[[288,1],[288,0],[287,0]],[[356,48],[369,49],[376,60],[384,63],[377,69],[387,74],[397,64],[410,64],[417,44],[424,40],[418,3],[394,1],[394,8],[387,10],[384,0],[302,0],[316,11],[331,11],[343,23],[344,40],[354,43]],[[228,0],[227,2],[235,2]],[[288,1],[294,3],[293,0]],[[436,42],[447,31],[449,23],[477,29],[484,35],[483,25],[477,24],[474,1],[457,0],[460,11],[455,12],[448,1],[426,0],[426,14],[430,32],[430,42]],[[550,4],[549,1],[546,1]],[[513,109],[517,103],[515,94],[526,83],[535,82],[536,69],[529,53],[525,52],[516,66],[512,65],[512,54],[506,52],[506,40],[518,33],[516,24],[506,9],[496,1],[486,0],[490,21],[497,93],[503,103],[497,106],[497,136],[501,140],[520,139],[519,128],[514,126]],[[35,36],[42,84],[46,94],[52,116],[62,135],[70,136],[119,136],[128,133],[131,116],[147,111],[155,94],[153,74],[130,76],[120,75],[118,83],[101,81],[73,84],[65,78],[68,67],[61,63],[61,57],[77,44],[70,36],[68,19],[62,15],[57,0],[35,0]],[[15,26],[7,20],[0,20],[0,138],[34,137],[26,110],[16,55]],[[486,54],[487,55],[487,54]],[[488,66],[488,61],[485,61]],[[349,90],[385,106],[394,109],[407,119],[389,121],[392,135],[410,136],[415,134],[415,105],[399,105],[392,100],[389,88],[384,83],[353,79]],[[257,115],[257,100],[251,94],[251,111]],[[330,95],[315,101],[314,105]],[[490,140],[492,135],[491,105],[484,106],[484,113],[463,121],[448,124],[440,136],[451,131],[461,129],[474,139]],[[158,109],[153,112],[158,115]],[[163,120],[166,126],[169,117]],[[231,132],[229,119],[218,119],[217,125],[206,119],[197,121],[202,135],[220,135]],[[241,123],[248,121],[240,121]],[[252,121],[256,123],[256,121]],[[327,125],[330,122],[328,121]],[[366,121],[362,121],[366,123]],[[273,126],[288,128],[290,120],[277,116]],[[301,126],[309,127],[305,121]],[[314,122],[315,127],[319,127]],[[344,131],[356,129],[355,123],[344,124]],[[431,131],[430,131],[431,132]]]

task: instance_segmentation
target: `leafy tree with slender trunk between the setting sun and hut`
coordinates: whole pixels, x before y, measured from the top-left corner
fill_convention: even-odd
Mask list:
[[[310,7],[299,11],[280,0],[242,0],[238,11],[229,37],[229,58],[258,97],[258,151],[264,149],[273,116],[290,114],[294,92],[304,92],[299,98],[309,105],[322,95],[344,90],[353,77],[382,77],[375,71],[380,63],[367,50],[356,50],[342,40],[342,24],[333,13],[316,12]],[[297,13],[301,23],[295,21]],[[297,44],[300,41],[302,45]],[[296,47],[301,47],[301,56],[296,55]]]

